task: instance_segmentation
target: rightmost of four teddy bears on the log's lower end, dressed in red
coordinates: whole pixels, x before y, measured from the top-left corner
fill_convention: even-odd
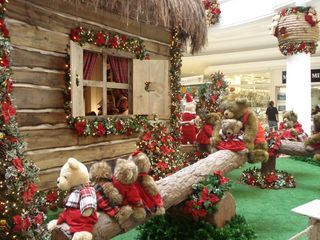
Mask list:
[[[152,214],[164,214],[165,209],[157,184],[153,177],[148,175],[151,169],[148,156],[137,150],[132,153],[129,159],[133,160],[138,167],[138,181],[136,185],[142,197],[144,207]]]

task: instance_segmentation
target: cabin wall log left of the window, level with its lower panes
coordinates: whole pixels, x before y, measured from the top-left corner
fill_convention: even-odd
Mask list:
[[[14,104],[18,109],[63,108],[63,90],[48,90],[28,87],[15,87]]]

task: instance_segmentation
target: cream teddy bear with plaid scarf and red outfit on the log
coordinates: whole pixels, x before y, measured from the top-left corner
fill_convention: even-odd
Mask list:
[[[47,226],[52,232],[52,239],[92,240],[93,227],[98,221],[97,200],[87,167],[69,158],[60,170],[57,186],[69,191],[69,195],[59,218],[50,221]],[[61,238],[62,235],[65,238]]]

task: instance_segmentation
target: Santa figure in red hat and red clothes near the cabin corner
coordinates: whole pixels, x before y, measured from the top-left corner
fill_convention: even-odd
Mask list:
[[[199,119],[196,115],[196,103],[190,93],[186,93],[186,105],[181,121],[182,144],[193,144],[196,141],[197,128],[195,122]]]

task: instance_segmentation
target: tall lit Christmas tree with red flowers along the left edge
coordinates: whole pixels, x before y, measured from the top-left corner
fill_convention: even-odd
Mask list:
[[[26,160],[12,104],[11,43],[5,21],[7,0],[0,0],[0,239],[43,239],[36,181],[39,169]],[[40,237],[41,235],[41,237]]]

